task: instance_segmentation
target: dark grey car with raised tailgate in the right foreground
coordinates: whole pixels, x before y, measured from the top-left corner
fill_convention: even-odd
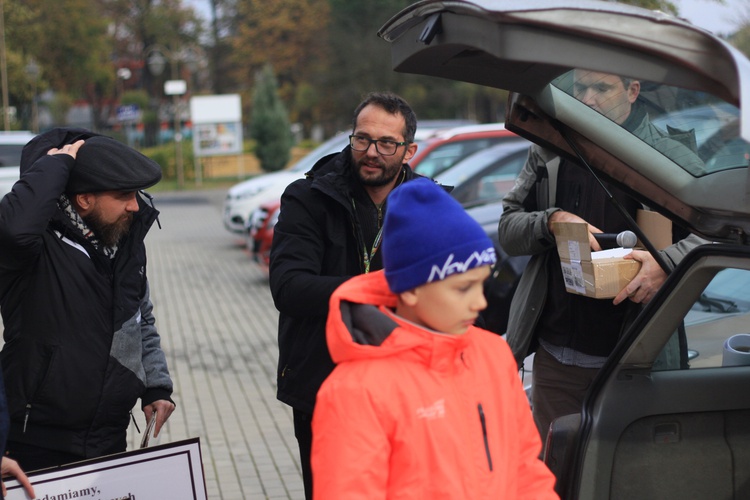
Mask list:
[[[509,130],[585,160],[592,175],[713,242],[671,271],[580,412],[553,422],[545,460],[562,498],[750,498],[750,361],[725,362],[725,353],[750,356],[727,345],[748,332],[747,284],[725,280],[750,273],[748,160],[714,161],[724,147],[748,146],[750,61],[680,19],[596,0],[424,0],[379,35],[392,44],[395,70],[508,90]],[[638,79],[654,90],[640,98],[662,114],[711,105],[740,120],[720,126],[722,147],[696,163],[695,150],[660,150],[577,100],[576,68]],[[697,148],[691,131],[702,126],[663,132]]]

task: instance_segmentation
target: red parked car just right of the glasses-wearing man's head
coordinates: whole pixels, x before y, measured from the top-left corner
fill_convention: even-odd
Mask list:
[[[409,164],[418,174],[435,177],[472,153],[514,139],[518,136],[502,123],[438,129],[419,142]]]

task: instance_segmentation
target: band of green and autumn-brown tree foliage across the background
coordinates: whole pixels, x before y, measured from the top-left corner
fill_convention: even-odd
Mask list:
[[[172,71],[188,81],[190,95],[218,91],[243,96],[246,121],[253,122],[251,133],[259,134],[253,150],[268,170],[281,168],[289,158],[290,120],[301,123],[306,136],[318,126],[331,135],[349,127],[354,107],[374,90],[401,94],[419,119],[504,119],[504,91],[392,70],[391,46],[376,33],[415,0],[210,0],[210,33],[210,21],[197,15],[190,7],[194,2],[187,0],[3,2],[10,105],[20,116],[28,115],[34,91],[41,95],[51,90],[57,97],[42,104],[56,125],[65,124],[74,100],[85,100],[94,120],[101,120],[95,128],[106,132],[105,118],[113,116],[107,106],[119,100],[143,110],[145,143],[153,144],[165,119],[159,107],[168,100],[163,82],[175,76]],[[678,13],[680,4],[621,3],[668,13]],[[748,16],[738,18],[737,26],[730,42],[750,54]],[[145,54],[156,47],[171,60],[179,59],[158,76],[144,64]],[[188,70],[180,59],[186,47],[201,49],[196,51],[201,53],[200,68]],[[41,70],[36,79],[26,71],[31,57]],[[256,88],[265,80],[255,79],[268,66],[275,76],[271,94]],[[120,68],[130,69],[132,78],[118,82]],[[254,109],[261,103],[268,104],[267,109]],[[267,129],[283,132],[271,140],[263,135]]]

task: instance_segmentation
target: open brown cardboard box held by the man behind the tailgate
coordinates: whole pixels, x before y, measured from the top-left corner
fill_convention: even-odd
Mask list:
[[[672,221],[661,214],[639,210],[638,226],[657,250],[672,241]],[[592,252],[587,224],[555,222],[557,253],[560,255],[565,288],[570,293],[595,299],[614,298],[638,274],[638,261],[623,259],[630,248],[614,248]],[[642,248],[640,246],[636,248]]]

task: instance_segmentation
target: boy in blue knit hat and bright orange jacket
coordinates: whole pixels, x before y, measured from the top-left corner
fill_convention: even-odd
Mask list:
[[[387,203],[384,271],[331,297],[314,498],[557,498],[510,349],[473,326],[492,242],[428,179]]]

